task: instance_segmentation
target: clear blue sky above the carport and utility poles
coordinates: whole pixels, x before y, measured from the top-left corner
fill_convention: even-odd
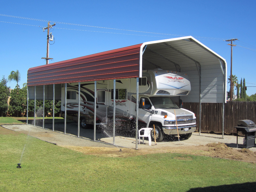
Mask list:
[[[239,81],[246,79],[247,94],[255,94],[256,87],[249,87],[256,86],[255,7],[256,1],[229,0],[3,1],[2,15],[45,21],[0,15],[0,76],[7,78],[12,70],[19,70],[22,87],[27,81],[27,70],[46,63],[41,57],[46,57],[47,31],[43,32],[41,28],[47,26],[46,21],[53,21],[96,27],[57,23],[50,30],[55,44],[50,45],[49,57],[54,59],[49,63],[147,41],[191,35],[226,59],[229,76],[231,51],[223,40],[238,38],[240,41],[235,41],[237,46],[233,47],[232,71]],[[8,82],[11,88],[15,85],[15,82]]]

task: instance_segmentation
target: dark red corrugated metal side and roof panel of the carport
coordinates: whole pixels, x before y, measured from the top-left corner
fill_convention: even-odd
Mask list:
[[[27,86],[139,77],[141,45],[29,68]]]

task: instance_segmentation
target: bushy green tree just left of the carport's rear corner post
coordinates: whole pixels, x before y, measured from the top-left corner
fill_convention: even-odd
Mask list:
[[[9,113],[18,117],[27,108],[27,91],[20,89],[17,84],[15,89],[11,91],[10,96]]]

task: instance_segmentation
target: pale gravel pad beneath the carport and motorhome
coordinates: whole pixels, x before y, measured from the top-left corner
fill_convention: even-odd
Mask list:
[[[56,124],[55,130],[52,131],[50,129],[42,129],[40,127],[36,127],[33,125],[2,125],[6,129],[10,129],[13,131],[18,131],[21,133],[25,133],[27,135],[39,138],[43,141],[47,141],[50,143],[56,143],[57,145],[62,146],[87,146],[87,147],[116,147],[113,146],[113,137],[112,131],[102,130],[96,131],[96,141],[93,141],[93,129],[80,129],[80,137],[77,137],[77,124],[70,123],[67,124],[66,133],[64,134],[64,128],[62,124]],[[47,127],[47,125],[45,126]],[[50,127],[49,127],[50,128]],[[52,128],[51,128],[52,129]],[[243,143],[242,136],[238,137],[238,143]],[[236,148],[236,136],[232,135],[222,135],[218,134],[209,134],[209,133],[201,133],[199,135],[198,132],[194,132],[192,136],[187,140],[178,141],[178,137],[166,137],[164,141],[155,142],[152,141],[152,145],[149,146],[148,141],[145,140],[144,144],[142,144],[142,140],[140,145],[138,145],[138,149],[161,149],[161,148],[173,148],[179,146],[197,146],[197,145],[206,145],[208,143],[225,143],[229,147]],[[115,145],[135,148],[135,134],[129,135],[127,132],[116,132],[115,136]],[[240,149],[240,148],[238,148]],[[256,147],[250,148],[251,151],[256,151]]]

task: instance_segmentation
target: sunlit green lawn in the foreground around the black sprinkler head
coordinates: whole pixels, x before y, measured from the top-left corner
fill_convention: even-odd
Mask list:
[[[22,168],[16,168],[20,159]],[[255,178],[252,163],[174,153],[97,157],[25,134],[0,133],[1,192],[244,192],[255,190]]]

